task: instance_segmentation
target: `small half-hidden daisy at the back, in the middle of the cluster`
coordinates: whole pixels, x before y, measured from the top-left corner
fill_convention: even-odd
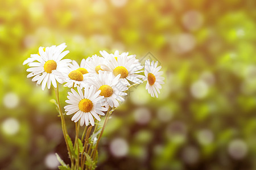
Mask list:
[[[103,57],[98,57],[97,55],[93,55],[92,57],[88,57],[88,62],[86,63],[86,68],[89,73],[98,74],[101,69],[101,64],[104,63],[105,59]]]

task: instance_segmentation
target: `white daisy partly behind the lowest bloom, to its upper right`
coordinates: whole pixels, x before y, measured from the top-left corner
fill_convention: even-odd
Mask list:
[[[121,75],[114,76],[108,71],[98,71],[98,74],[94,74],[93,79],[89,79],[89,84],[95,86],[98,90],[101,90],[100,95],[104,96],[107,103],[106,107],[118,107],[119,101],[124,101],[122,96],[127,94],[124,92],[128,88],[119,82],[119,77]]]

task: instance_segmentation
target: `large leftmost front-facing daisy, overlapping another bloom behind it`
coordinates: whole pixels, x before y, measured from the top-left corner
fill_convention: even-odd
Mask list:
[[[35,56],[35,61],[38,62],[31,62],[29,63],[30,68],[27,69],[28,72],[31,72],[27,75],[27,78],[32,78],[33,82],[36,82],[36,84],[42,83],[42,90],[47,87],[48,89],[51,87],[51,83],[53,87],[57,87],[57,82],[63,83],[61,79],[55,74],[52,73],[52,71],[64,71],[67,69],[67,66],[69,65],[69,62],[71,62],[71,59],[63,59],[69,51],[64,51],[65,44],[61,44],[59,46],[50,46],[47,47],[44,51],[42,46],[39,47],[39,55]]]

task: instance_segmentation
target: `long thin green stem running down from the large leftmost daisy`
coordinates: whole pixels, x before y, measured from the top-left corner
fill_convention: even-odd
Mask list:
[[[68,149],[68,154],[69,154],[69,158],[71,160],[71,167],[73,167],[73,156],[71,154],[71,150],[68,146],[68,139],[67,139],[67,126],[66,126],[66,123],[65,123],[65,119],[64,119],[64,116],[63,116],[63,112],[62,112],[62,109],[60,107],[60,99],[59,99],[59,83],[57,82],[57,88],[55,88],[55,94],[56,94],[56,99],[57,99],[57,104],[58,104],[58,107],[59,107],[59,113],[60,113],[60,118],[61,118],[61,128],[62,128],[62,131],[63,131],[63,135],[64,135],[64,139],[65,139],[65,143],[67,145],[67,149]]]

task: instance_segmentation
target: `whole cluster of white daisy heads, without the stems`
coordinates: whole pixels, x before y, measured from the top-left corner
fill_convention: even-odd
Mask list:
[[[81,126],[88,126],[89,122],[93,126],[94,118],[100,121],[98,115],[104,116],[109,107],[118,107],[119,102],[125,100],[123,97],[129,87],[143,83],[142,80],[147,81],[148,93],[158,97],[164,78],[157,61],[147,60],[143,66],[135,55],[101,51],[102,57],[94,55],[82,59],[79,65],[71,59],[63,59],[69,53],[68,50],[63,51],[66,47],[65,43],[40,47],[38,54],[31,54],[23,65],[30,66],[27,71],[31,73],[27,77],[33,77],[36,84],[42,83],[42,90],[46,85],[49,89],[51,84],[56,88],[57,83],[71,88],[66,100],[69,105],[64,109],[67,115],[74,114],[72,121],[80,120]]]

